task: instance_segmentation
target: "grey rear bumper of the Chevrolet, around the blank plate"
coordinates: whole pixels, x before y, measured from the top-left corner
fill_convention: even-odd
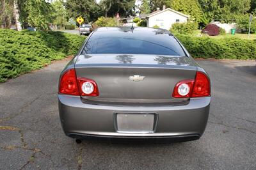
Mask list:
[[[199,139],[204,133],[211,97],[193,98],[187,105],[161,107],[84,104],[80,97],[68,95],[58,95],[58,100],[61,125],[70,137],[172,138],[190,141]],[[145,134],[116,132],[113,116],[116,112],[155,112],[158,115],[156,130]]]

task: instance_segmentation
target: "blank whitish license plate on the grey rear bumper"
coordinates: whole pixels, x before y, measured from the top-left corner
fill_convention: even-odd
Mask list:
[[[116,128],[120,133],[154,132],[155,114],[152,113],[117,113]]]

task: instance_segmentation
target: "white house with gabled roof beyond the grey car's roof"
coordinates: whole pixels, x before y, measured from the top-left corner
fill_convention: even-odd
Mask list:
[[[176,22],[187,22],[188,15],[166,8],[164,10],[157,10],[156,12],[149,13],[147,15],[141,14],[141,19],[147,19],[147,26],[159,26],[164,29],[170,29],[172,24]]]

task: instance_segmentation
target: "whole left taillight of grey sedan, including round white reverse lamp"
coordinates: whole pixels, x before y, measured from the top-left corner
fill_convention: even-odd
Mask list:
[[[75,96],[99,96],[98,86],[92,79],[76,77],[76,70],[67,70],[60,79],[59,93]]]

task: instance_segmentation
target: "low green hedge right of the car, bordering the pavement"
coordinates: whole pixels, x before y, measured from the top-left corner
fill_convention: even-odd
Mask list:
[[[194,58],[256,59],[256,40],[176,36]]]

